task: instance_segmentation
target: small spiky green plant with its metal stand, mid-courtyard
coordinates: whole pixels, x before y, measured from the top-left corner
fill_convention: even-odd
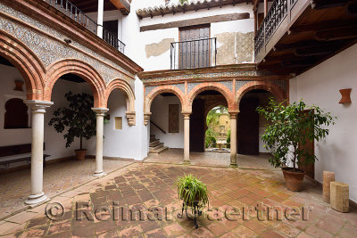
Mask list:
[[[201,215],[200,209],[204,208],[206,204],[209,204],[207,186],[203,184],[199,179],[195,178],[192,174],[179,177],[175,183],[178,185],[179,200],[182,202],[182,217],[184,209],[191,208],[195,218],[195,227],[197,228],[196,215]],[[187,217],[188,214],[187,214]]]

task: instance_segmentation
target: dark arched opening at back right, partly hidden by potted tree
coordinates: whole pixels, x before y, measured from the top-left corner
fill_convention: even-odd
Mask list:
[[[253,89],[242,96],[237,120],[238,154],[269,153],[262,142],[267,121],[258,114],[256,108],[266,106],[270,97],[274,97],[274,95],[264,89]]]

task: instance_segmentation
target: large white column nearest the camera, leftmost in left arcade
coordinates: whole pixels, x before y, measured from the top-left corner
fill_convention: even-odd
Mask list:
[[[31,187],[28,205],[36,205],[46,201],[47,196],[43,192],[44,177],[44,116],[46,108],[53,102],[44,102],[37,100],[24,101],[31,109]]]

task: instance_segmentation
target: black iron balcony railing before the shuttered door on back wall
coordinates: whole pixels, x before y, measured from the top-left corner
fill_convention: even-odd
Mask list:
[[[170,46],[171,70],[216,66],[217,38],[173,42]]]

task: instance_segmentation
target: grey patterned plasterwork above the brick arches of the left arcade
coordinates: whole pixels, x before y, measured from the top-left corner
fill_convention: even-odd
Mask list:
[[[62,33],[49,28],[48,26],[39,21],[30,18],[28,15],[25,15],[22,12],[15,11],[11,7],[8,7],[1,3],[0,12],[7,13],[12,17],[24,21],[29,25],[59,39],[58,41],[54,40],[53,38],[47,37],[45,34],[41,34],[40,31],[26,28],[22,24],[10,21],[0,15],[0,30],[4,30],[13,37],[16,37],[17,39],[21,40],[23,44],[27,45],[29,49],[37,55],[37,57],[45,65],[45,67],[49,66],[53,62],[57,62],[63,59],[77,59],[82,62],[87,62],[93,68],[95,68],[95,70],[99,72],[102,78],[104,78],[106,84],[109,84],[114,78],[122,78],[126,79],[134,90],[134,80],[115,69],[120,69],[122,72],[125,72],[129,75],[130,73],[127,70],[121,68],[116,63],[109,61],[100,54],[95,53],[94,51],[88,49],[83,45],[80,45],[73,39],[71,39],[72,47],[64,44],[63,39],[67,38],[67,36],[62,35]],[[79,49],[80,51],[83,51],[87,54],[81,53],[79,52],[79,50],[76,49]],[[103,62],[106,62],[110,66],[104,64]]]

